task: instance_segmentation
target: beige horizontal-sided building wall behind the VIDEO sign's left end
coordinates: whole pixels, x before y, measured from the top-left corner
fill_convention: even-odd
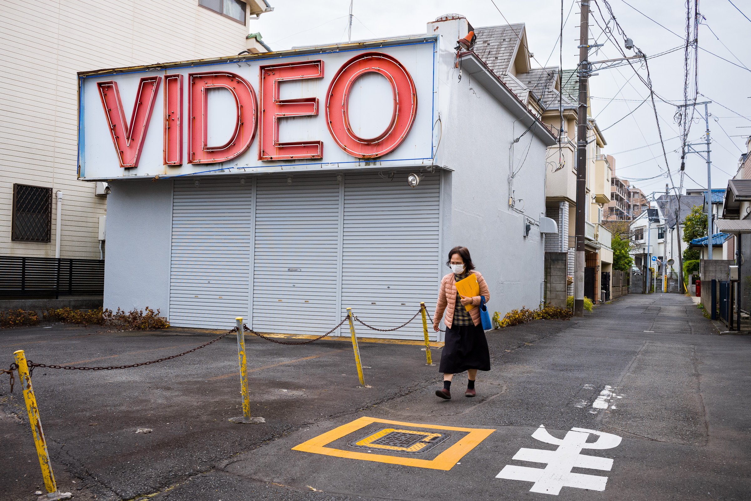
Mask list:
[[[99,258],[107,199],[77,180],[78,71],[230,56],[245,50],[248,23],[258,21],[243,25],[198,0],[2,2],[0,255],[55,257],[61,190],[60,257]],[[11,241],[14,183],[53,189],[50,243]]]

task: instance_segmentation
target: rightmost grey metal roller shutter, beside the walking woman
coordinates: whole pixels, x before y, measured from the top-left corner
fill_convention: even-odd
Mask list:
[[[407,185],[407,173],[347,174],[344,197],[342,315],[374,327],[397,327],[425,301],[428,315],[439,285],[440,175]],[[391,333],[356,324],[362,337],[423,339],[422,321]],[[432,324],[430,339],[436,340]]]

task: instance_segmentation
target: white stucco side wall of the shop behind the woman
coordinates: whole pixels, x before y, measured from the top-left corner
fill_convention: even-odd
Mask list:
[[[454,170],[452,230],[443,247],[469,248],[490,288],[491,314],[536,308],[544,279],[544,240],[538,225],[532,224],[526,238],[522,228],[525,216],[539,222],[545,210],[547,146],[532,131],[514,146],[513,162],[519,170],[514,196],[517,208],[523,207],[523,214],[517,213],[508,207],[508,158],[514,134],[520,135],[524,127],[517,124],[514,131],[515,117],[471,78],[451,90],[448,116],[442,117],[439,161]]]

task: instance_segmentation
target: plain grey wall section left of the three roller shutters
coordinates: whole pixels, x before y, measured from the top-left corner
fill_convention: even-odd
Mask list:
[[[169,316],[172,182],[112,183],[107,197],[104,307]]]

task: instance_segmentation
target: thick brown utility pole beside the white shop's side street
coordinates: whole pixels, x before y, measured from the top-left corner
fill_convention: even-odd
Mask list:
[[[575,316],[584,316],[584,234],[587,226],[587,86],[590,78],[589,42],[590,0],[582,0],[581,19],[579,21],[579,107],[576,128]]]

